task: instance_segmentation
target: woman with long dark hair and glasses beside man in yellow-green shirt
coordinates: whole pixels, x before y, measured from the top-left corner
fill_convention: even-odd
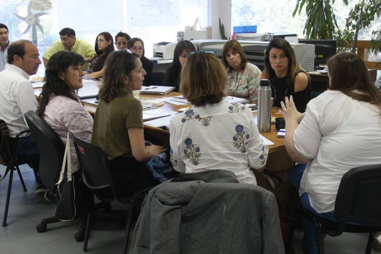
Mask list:
[[[99,78],[103,75],[103,65],[110,53],[114,52],[114,39],[109,32],[98,34],[95,40],[95,53],[97,53],[90,63],[90,72],[87,74],[91,78]]]

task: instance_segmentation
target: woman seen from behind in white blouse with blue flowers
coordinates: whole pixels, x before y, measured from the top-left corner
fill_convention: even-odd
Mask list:
[[[180,90],[193,107],[171,119],[174,169],[181,173],[224,169],[234,172],[240,183],[256,184],[252,169],[264,167],[268,148],[251,110],[222,101],[226,96],[223,64],[212,54],[191,54],[182,71]]]

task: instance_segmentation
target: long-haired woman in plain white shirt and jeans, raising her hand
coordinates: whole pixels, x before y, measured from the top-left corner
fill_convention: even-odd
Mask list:
[[[342,52],[327,65],[329,90],[311,100],[306,113],[296,110],[292,96],[279,112],[286,121],[286,150],[300,163],[289,176],[302,205],[334,220],[342,176],[352,168],[381,163],[381,92],[358,55]],[[305,253],[318,252],[316,233],[307,222]]]

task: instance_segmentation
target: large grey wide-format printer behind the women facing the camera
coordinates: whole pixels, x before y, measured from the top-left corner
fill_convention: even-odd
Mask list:
[[[227,40],[194,40],[194,48],[196,50],[213,50],[216,51],[218,57],[222,57],[222,48]],[[268,42],[258,41],[238,41],[244,48],[246,57],[250,63],[258,66],[259,69],[264,68],[264,51],[267,48]],[[299,64],[306,71],[314,70],[315,60],[315,45],[303,44],[303,43],[290,43],[291,47],[295,51],[296,58]],[[312,47],[311,47],[312,46]]]

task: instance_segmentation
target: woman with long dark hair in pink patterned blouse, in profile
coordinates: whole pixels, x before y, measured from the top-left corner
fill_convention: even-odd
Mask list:
[[[77,53],[60,51],[49,59],[45,70],[37,114],[57,132],[64,144],[69,130],[83,140],[91,139],[93,118],[74,93],[83,86],[84,63],[83,57]],[[70,152],[71,167],[76,171],[78,162],[72,142]]]

